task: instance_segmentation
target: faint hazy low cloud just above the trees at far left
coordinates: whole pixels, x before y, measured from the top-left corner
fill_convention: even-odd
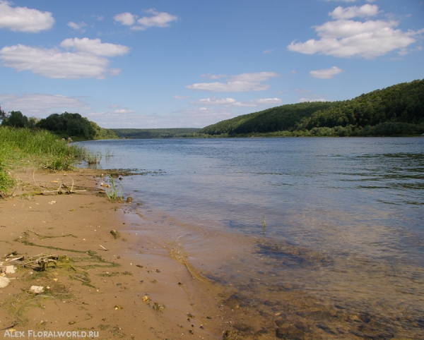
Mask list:
[[[4,111],[21,111],[26,116],[45,118],[56,111],[89,109],[81,99],[45,93],[25,93],[24,95],[0,95]]]

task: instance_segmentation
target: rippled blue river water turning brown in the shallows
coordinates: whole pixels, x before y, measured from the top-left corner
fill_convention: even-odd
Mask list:
[[[80,144],[244,338],[424,339],[424,138]]]

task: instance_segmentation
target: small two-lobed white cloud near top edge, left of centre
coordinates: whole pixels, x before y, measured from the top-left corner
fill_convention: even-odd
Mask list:
[[[151,14],[151,16],[143,16],[136,20],[138,16],[126,12],[117,14],[114,16],[114,20],[122,23],[122,25],[131,26],[131,30],[147,30],[152,27],[165,28],[169,27],[173,21],[178,20],[177,16],[166,12],[158,12],[154,9],[149,9],[146,13]]]

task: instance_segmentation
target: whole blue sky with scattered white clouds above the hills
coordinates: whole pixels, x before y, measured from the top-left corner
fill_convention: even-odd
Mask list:
[[[0,0],[0,105],[203,128],[424,78],[423,0]]]

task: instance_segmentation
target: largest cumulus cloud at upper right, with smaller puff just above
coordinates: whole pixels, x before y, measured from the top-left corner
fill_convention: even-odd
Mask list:
[[[364,5],[360,8],[364,8]],[[332,15],[351,18],[360,13],[372,13],[378,11],[377,6],[370,6],[363,10],[353,6],[334,10]],[[336,13],[334,13],[336,11]],[[330,13],[330,15],[331,15]],[[405,52],[406,47],[416,42],[414,36],[423,30],[403,32],[396,29],[399,25],[396,21],[367,20],[365,22],[339,19],[329,21],[316,26],[315,32],[321,37],[319,40],[307,40],[307,42],[291,42],[288,45],[290,51],[303,54],[324,54],[336,57],[360,56],[372,59],[382,56],[390,51],[400,50]]]

